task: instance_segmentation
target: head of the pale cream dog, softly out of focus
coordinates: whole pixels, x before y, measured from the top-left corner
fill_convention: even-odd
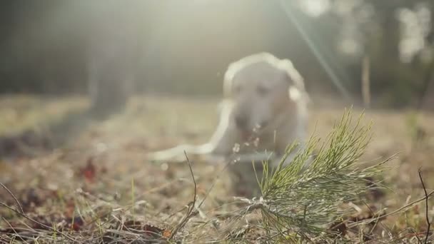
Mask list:
[[[246,133],[276,129],[276,118],[291,110],[296,116],[297,103],[307,98],[303,78],[291,61],[267,53],[231,63],[223,92],[234,103],[236,126]]]

